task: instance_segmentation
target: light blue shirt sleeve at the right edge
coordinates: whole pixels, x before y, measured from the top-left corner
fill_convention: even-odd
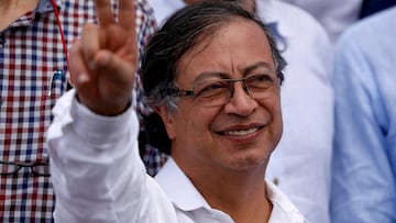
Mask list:
[[[375,55],[364,54],[369,45],[349,37],[340,40],[334,57],[331,222],[392,223],[396,188],[381,124],[388,118],[370,60]]]

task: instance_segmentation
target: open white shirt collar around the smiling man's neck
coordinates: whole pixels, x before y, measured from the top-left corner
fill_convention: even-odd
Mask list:
[[[194,216],[194,219],[187,216],[189,222],[233,222],[223,212],[210,208],[172,158],[155,176],[155,180],[178,210],[188,213],[188,216]],[[268,198],[273,203],[268,223],[308,222],[279,189],[268,181],[266,186]],[[201,214],[205,212],[210,214]],[[184,220],[187,221],[187,219]]]

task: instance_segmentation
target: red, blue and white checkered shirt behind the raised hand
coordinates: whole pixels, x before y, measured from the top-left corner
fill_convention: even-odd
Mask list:
[[[138,42],[142,51],[155,32],[155,19],[145,0],[135,2]],[[57,0],[56,3],[67,47],[70,47],[84,24],[96,20],[94,1]],[[40,0],[36,9],[0,31],[0,160],[48,160],[45,136],[52,121],[51,109],[66,91],[68,79],[51,0]],[[139,89],[142,89],[141,80],[136,75],[136,109],[146,113]],[[30,168],[0,176],[0,222],[53,222],[55,198],[50,180],[50,177],[34,176]]]

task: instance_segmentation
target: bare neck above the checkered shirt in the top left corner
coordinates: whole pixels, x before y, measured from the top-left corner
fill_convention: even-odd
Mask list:
[[[38,3],[38,0],[6,0],[0,1],[0,31],[4,30],[18,18],[32,11]]]

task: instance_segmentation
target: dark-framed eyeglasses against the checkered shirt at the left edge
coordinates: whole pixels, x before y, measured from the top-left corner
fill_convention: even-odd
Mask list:
[[[0,175],[14,175],[22,167],[30,167],[32,172],[36,176],[50,177],[48,163],[22,163],[22,161],[0,161]]]

